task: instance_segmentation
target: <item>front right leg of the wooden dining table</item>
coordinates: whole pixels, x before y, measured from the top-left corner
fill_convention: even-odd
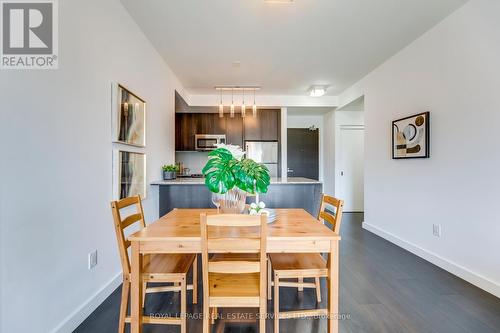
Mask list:
[[[328,332],[339,331],[339,242],[330,242],[330,255],[328,256]]]

